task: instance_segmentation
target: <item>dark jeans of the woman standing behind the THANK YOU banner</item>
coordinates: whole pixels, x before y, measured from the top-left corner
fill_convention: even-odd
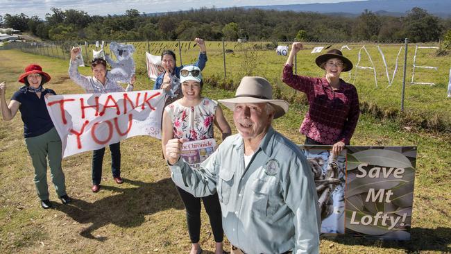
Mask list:
[[[110,144],[111,172],[113,177],[121,176],[121,142]],[[92,184],[100,185],[105,147],[92,152]]]

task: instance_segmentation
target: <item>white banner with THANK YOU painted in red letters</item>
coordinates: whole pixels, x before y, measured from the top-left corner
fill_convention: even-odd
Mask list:
[[[67,94],[45,99],[63,158],[137,135],[161,138],[162,90]]]

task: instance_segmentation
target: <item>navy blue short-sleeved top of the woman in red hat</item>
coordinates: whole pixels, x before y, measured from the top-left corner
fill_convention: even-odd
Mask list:
[[[29,92],[26,86],[12,95],[11,100],[19,101],[19,110],[24,122],[24,137],[36,137],[46,133],[53,128],[49,111],[45,105],[44,96],[46,94],[55,94],[55,91],[46,89],[41,93],[41,98],[34,92]]]

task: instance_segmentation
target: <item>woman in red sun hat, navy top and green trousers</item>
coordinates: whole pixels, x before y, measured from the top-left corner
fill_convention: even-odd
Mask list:
[[[37,196],[44,209],[51,208],[49,191],[47,190],[47,161],[49,161],[51,179],[56,193],[63,204],[71,202],[67,196],[65,174],[61,168],[61,139],[51,121],[44,98],[56,93],[42,87],[50,81],[49,74],[42,71],[39,65],[28,65],[25,73],[19,76],[19,82],[24,83],[12,95],[9,105],[6,103],[6,83],[0,83],[0,105],[3,120],[10,121],[20,110],[24,122],[24,137],[26,149],[30,153],[35,168]]]

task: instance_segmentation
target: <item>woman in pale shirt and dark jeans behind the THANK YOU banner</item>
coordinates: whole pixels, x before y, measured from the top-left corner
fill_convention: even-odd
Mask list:
[[[131,78],[127,88],[119,85],[108,76],[106,61],[102,58],[94,58],[91,62],[93,76],[83,76],[78,72],[77,58],[80,56],[80,48],[74,48],[71,51],[71,60],[69,62],[69,77],[77,85],[80,85],[87,93],[108,94],[109,92],[129,92],[133,91],[135,76]],[[111,152],[111,171],[114,182],[124,183],[121,178],[121,146],[120,142],[110,144]],[[99,192],[102,179],[102,164],[105,147],[94,150],[92,153],[92,192]]]

